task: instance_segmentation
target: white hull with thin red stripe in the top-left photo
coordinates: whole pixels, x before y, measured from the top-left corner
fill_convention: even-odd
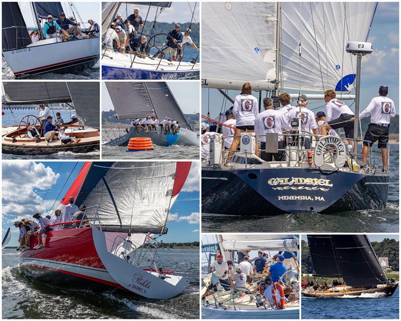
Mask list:
[[[43,45],[3,51],[3,57],[17,78],[45,72],[74,73],[99,61],[99,38],[54,41],[47,39],[41,41]]]

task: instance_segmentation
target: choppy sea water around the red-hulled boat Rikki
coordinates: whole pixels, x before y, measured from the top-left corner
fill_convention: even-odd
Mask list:
[[[39,282],[21,273],[20,253],[6,248],[2,254],[2,318],[199,318],[199,250],[159,249],[158,254],[166,265],[192,263],[189,286],[166,300],[147,299],[111,287],[100,290],[79,281],[63,285]]]

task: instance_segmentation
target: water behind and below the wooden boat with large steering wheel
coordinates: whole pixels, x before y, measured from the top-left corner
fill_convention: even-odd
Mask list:
[[[20,123],[23,117],[27,115],[39,116],[39,109],[12,109],[3,107],[4,115],[2,117],[2,126],[15,126]],[[75,114],[75,110],[68,109],[53,109],[51,115],[53,119],[56,118],[56,113],[59,112],[64,121],[68,122],[71,119],[71,115]],[[30,118],[32,119],[32,117]],[[25,119],[26,121],[27,119]],[[39,121],[38,121],[39,123]],[[13,154],[2,154],[3,159],[99,159],[100,152],[98,150],[86,152],[86,153],[75,153],[72,151],[59,151],[55,154],[50,155],[13,155]]]

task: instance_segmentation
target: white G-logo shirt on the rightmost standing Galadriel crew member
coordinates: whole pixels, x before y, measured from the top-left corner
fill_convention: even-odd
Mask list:
[[[394,102],[385,96],[374,97],[359,114],[359,118],[364,118],[368,115],[370,115],[370,122],[373,124],[389,124],[390,119],[395,117]]]

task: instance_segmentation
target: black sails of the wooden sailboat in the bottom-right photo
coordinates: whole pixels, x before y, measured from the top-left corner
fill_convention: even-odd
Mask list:
[[[308,235],[314,271],[342,277],[350,286],[372,286],[387,281],[366,235]]]

